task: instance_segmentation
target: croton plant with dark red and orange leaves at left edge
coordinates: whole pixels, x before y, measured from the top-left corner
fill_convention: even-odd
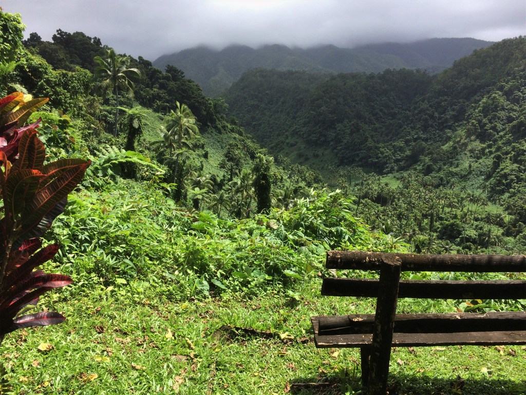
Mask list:
[[[0,342],[16,329],[65,320],[56,312],[24,314],[44,292],[72,282],[66,275],[36,268],[57,252],[57,244],[42,248],[41,236],[64,211],[67,195],[89,166],[80,159],[44,164],[39,121],[24,123],[47,100],[26,101],[19,92],[0,100]]]

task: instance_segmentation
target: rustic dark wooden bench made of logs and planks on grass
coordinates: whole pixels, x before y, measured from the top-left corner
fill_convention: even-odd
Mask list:
[[[400,280],[412,272],[526,272],[526,256],[329,251],[328,269],[379,270],[379,279],[323,279],[321,294],[377,298],[376,314],[311,317],[318,348],[360,348],[368,395],[385,395],[391,347],[526,344],[526,312],[396,314],[398,298],[526,299],[526,281]]]

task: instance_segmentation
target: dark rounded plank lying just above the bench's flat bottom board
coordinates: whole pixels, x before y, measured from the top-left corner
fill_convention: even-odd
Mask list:
[[[372,333],[375,314],[319,316],[320,335]],[[526,331],[526,312],[397,314],[395,332]]]

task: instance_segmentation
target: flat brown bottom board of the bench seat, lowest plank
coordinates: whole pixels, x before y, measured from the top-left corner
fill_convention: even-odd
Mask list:
[[[311,317],[318,348],[363,348],[372,342],[372,334],[319,335],[318,317]],[[453,333],[393,333],[393,347],[444,345],[519,345],[526,344],[526,330]]]

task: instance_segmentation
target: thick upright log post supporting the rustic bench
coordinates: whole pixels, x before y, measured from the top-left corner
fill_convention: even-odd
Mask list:
[[[376,304],[375,328],[372,333],[369,358],[367,395],[386,395],[387,376],[395,314],[398,303],[401,261],[396,256],[384,256],[380,266],[380,287]]]

